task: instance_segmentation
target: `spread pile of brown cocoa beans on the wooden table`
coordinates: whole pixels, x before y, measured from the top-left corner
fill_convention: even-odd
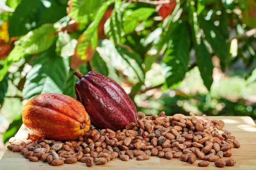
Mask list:
[[[232,148],[239,148],[236,138],[223,130],[224,122],[209,120],[206,115],[190,117],[175,114],[167,117],[145,116],[137,113],[137,124],[129,123],[125,129],[114,132],[110,129],[98,130],[91,127],[75,141],[55,141],[28,135],[23,141],[11,138],[8,148],[20,152],[29,161],[47,161],[50,165],[73,164],[77,161],[88,167],[106,164],[114,158],[122,161],[136,157],[138,161],[150,156],[172,159],[180,158],[193,164],[197,158],[203,161],[199,167],[214,162],[217,167],[233,166],[235,161],[220,160],[230,157]]]

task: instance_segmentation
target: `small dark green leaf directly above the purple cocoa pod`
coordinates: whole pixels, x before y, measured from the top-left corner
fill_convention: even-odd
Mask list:
[[[95,52],[90,59],[90,67],[94,72],[98,72],[102,75],[108,76],[108,67],[105,61],[99,55],[99,52]]]

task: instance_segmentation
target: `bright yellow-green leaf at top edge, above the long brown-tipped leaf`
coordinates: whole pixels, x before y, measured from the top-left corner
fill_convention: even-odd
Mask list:
[[[86,22],[89,15],[95,13],[96,10],[99,9],[103,0],[70,0],[69,3],[70,12],[68,15],[77,21]]]

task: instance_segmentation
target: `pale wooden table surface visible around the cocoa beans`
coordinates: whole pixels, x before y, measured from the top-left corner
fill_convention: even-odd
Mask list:
[[[247,116],[209,116],[215,120],[223,120],[225,122],[224,129],[231,132],[232,135],[240,142],[239,149],[233,148],[232,157],[236,161],[233,167],[224,167],[225,169],[233,170],[256,170],[256,125],[252,118]],[[16,138],[24,138],[27,136],[28,130],[22,125],[18,131]],[[225,160],[228,157],[223,157]],[[105,165],[94,165],[87,167],[85,163],[77,162],[75,164],[64,164],[58,167],[50,166],[47,162],[31,162],[24,158],[19,152],[14,153],[7,150],[3,158],[0,160],[0,170],[70,170],[70,169],[90,169],[90,170],[174,170],[174,169],[218,169],[214,163],[211,162],[208,167],[198,167],[197,160],[194,164],[180,161],[179,158],[159,158],[150,156],[147,161],[136,161],[136,158],[128,161],[122,161],[116,158],[109,161]]]

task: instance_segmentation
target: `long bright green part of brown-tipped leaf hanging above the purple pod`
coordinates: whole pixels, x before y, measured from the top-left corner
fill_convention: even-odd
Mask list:
[[[87,55],[85,51],[88,48],[89,44],[91,42],[96,42],[96,40],[94,40],[93,38],[96,37],[95,32],[97,32],[98,30],[99,22],[105,14],[106,10],[108,9],[108,6],[110,6],[112,3],[114,3],[114,0],[109,0],[100,6],[99,10],[95,14],[95,20],[93,20],[90,26],[88,26],[88,28],[79,37],[75,53],[81,57],[81,60],[86,60]],[[95,43],[93,44],[95,45]]]

